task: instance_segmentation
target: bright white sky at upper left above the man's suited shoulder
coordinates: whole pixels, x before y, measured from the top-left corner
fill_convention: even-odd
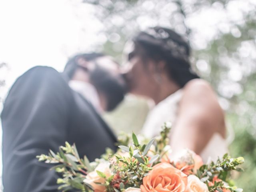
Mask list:
[[[0,0],[0,62],[9,66],[0,76],[6,76],[6,88],[36,65],[60,71],[68,56],[102,40],[96,35],[102,25],[94,19],[92,6],[78,2]]]

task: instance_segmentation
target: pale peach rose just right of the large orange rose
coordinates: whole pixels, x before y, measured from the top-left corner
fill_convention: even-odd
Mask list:
[[[185,192],[209,192],[205,183],[195,175],[188,176],[188,185]]]

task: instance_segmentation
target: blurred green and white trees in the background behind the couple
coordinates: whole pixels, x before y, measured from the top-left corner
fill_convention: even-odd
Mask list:
[[[171,27],[188,37],[194,50],[193,67],[202,78],[211,82],[222,108],[226,110],[228,124],[235,132],[230,152],[233,156],[244,156],[246,159],[246,172],[236,180],[237,185],[244,191],[256,192],[256,182],[253,182],[256,177],[255,1],[84,0],[84,3],[96,7],[96,17],[104,25],[101,34],[106,36],[107,41],[99,49],[115,56],[120,62],[125,42],[148,26]],[[211,14],[208,14],[208,19],[216,18],[212,28],[206,29],[203,23],[196,21],[196,15],[203,12]],[[132,127],[139,131],[142,126],[148,111],[146,103],[132,102],[125,102],[117,112],[106,115],[116,130]],[[140,116],[134,106],[138,109],[144,106]],[[133,123],[126,123],[124,116],[130,116],[129,120]]]

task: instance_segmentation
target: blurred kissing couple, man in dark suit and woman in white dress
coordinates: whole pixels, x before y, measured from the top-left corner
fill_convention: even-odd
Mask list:
[[[65,141],[90,161],[106,148],[116,150],[101,114],[128,92],[156,104],[142,134],[153,137],[172,122],[173,154],[189,148],[206,162],[227,152],[224,113],[209,83],[191,69],[186,38],[156,26],[136,34],[125,50],[122,67],[102,53],[82,53],[62,73],[36,66],[16,80],[1,114],[5,192],[56,192],[58,175],[36,156],[58,151]]]

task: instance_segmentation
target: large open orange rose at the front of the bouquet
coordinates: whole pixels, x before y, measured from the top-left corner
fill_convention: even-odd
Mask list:
[[[159,163],[143,178],[142,192],[184,192],[187,176],[168,163]]]

